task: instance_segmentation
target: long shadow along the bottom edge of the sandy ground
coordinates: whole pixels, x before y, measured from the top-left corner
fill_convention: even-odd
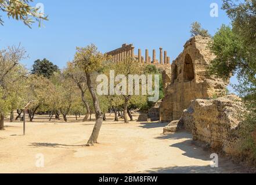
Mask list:
[[[208,166],[173,166],[168,168],[152,168],[145,173],[243,173],[241,169],[233,168],[211,168]]]

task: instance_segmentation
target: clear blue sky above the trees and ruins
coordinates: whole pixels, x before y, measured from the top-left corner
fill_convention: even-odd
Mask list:
[[[174,60],[190,38],[190,24],[199,21],[214,34],[221,24],[229,24],[221,10],[222,0],[77,0],[43,3],[45,28],[33,29],[23,23],[9,20],[2,12],[5,25],[0,26],[0,48],[21,43],[30,58],[23,61],[31,68],[37,59],[47,58],[62,68],[72,60],[76,46],[94,43],[106,52],[133,43],[145,50],[161,46]],[[218,3],[219,17],[210,16],[210,4]],[[232,79],[236,83],[236,79]]]

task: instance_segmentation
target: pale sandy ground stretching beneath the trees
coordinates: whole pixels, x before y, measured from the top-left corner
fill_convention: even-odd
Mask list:
[[[99,144],[84,146],[94,122],[6,123],[0,131],[1,173],[239,173],[243,168],[219,158],[211,168],[210,153],[187,132],[161,135],[163,123],[104,122]],[[44,167],[37,157],[44,155]]]

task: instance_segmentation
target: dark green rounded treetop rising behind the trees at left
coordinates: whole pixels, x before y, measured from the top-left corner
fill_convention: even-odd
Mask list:
[[[34,75],[42,75],[49,79],[53,73],[58,71],[59,67],[57,65],[54,65],[52,62],[44,58],[43,60],[36,60],[34,62],[31,73]]]

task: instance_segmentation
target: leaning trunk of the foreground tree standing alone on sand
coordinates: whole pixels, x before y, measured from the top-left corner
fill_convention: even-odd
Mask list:
[[[86,73],[86,78],[87,78],[86,83],[89,88],[89,92],[92,96],[93,106],[95,108],[95,114],[96,114],[96,123],[94,125],[92,135],[87,142],[87,146],[91,146],[93,145],[93,143],[98,143],[99,132],[103,122],[103,114],[102,114],[102,111],[100,110],[99,99],[96,96],[95,89],[92,86],[91,75],[89,73]]]

